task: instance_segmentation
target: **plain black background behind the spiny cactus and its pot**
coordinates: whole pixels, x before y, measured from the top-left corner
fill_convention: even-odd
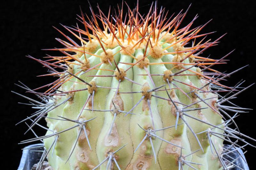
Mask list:
[[[105,13],[108,6],[115,6],[121,1],[98,1],[101,10]],[[129,1],[131,8],[135,6],[136,1]],[[140,13],[146,13],[151,1],[140,1]],[[244,65],[250,64],[248,67],[234,74],[227,81],[222,82],[225,85],[233,86],[239,80],[244,79],[244,86],[248,86],[255,82],[255,4],[253,1],[158,1],[158,7],[163,5],[170,14],[178,13],[181,9],[187,9],[192,3],[191,8],[184,19],[184,25],[188,24],[192,18],[198,14],[199,18],[194,22],[194,27],[206,23],[208,24],[203,33],[217,31],[209,35],[212,40],[217,39],[224,33],[228,33],[221,39],[218,46],[208,49],[202,56],[211,54],[212,58],[219,59],[236,50],[228,56],[230,61],[226,65],[214,67],[219,71],[231,72]],[[92,7],[96,11],[96,2],[91,2]],[[8,161],[8,168],[17,169],[21,158],[21,148],[25,145],[18,145],[18,142],[34,137],[31,132],[26,135],[26,125],[20,124],[15,126],[17,122],[33,113],[30,107],[19,105],[18,102],[26,102],[21,97],[11,93],[13,90],[24,94],[24,91],[14,85],[18,80],[22,81],[29,87],[36,88],[54,80],[52,77],[36,77],[37,75],[46,73],[46,69],[42,68],[39,63],[25,57],[32,55],[36,58],[42,58],[45,54],[54,54],[40,49],[54,48],[62,46],[54,40],[56,37],[63,38],[52,26],[61,28],[59,23],[66,26],[76,25],[76,14],[79,14],[79,5],[83,11],[90,14],[88,3],[83,1],[9,1],[1,4],[1,50],[0,50],[0,92],[1,92],[1,160],[4,164]],[[82,25],[80,25],[82,27]],[[193,28],[194,28],[193,27]],[[68,33],[67,33],[68,34]],[[68,34],[69,35],[69,34]],[[71,35],[70,35],[71,36]],[[63,38],[64,39],[64,38]],[[75,38],[74,38],[75,40]],[[234,100],[241,107],[255,108],[255,85],[247,91],[243,92]],[[241,114],[236,122],[240,125],[240,131],[248,134],[250,137],[255,135],[255,113]],[[44,131],[38,129],[38,135],[44,135]],[[255,144],[255,143],[254,143]],[[245,154],[250,169],[255,166],[256,149],[246,147],[248,152]],[[2,152],[3,151],[3,152]],[[6,160],[6,161],[5,161]],[[4,167],[2,165],[2,167]]]

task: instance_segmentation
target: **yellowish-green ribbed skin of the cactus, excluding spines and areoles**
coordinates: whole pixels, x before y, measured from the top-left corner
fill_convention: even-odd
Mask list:
[[[165,43],[164,47],[169,46],[170,44]],[[118,68],[126,70],[130,67],[130,65],[123,63],[135,63],[136,60],[133,59],[129,55],[124,55],[122,52],[118,52],[121,47],[117,46],[113,49],[113,54],[116,63],[118,64]],[[139,55],[143,55],[145,48],[136,49],[134,54],[135,57]],[[148,48],[149,51],[149,48]],[[172,52],[173,48],[167,49],[168,52]],[[100,45],[93,52],[96,55],[100,55],[103,52]],[[96,56],[86,55],[87,60],[90,62],[90,66],[93,67],[99,64],[100,58]],[[164,55],[159,59],[154,59],[150,55],[147,57],[150,63],[162,63],[162,62],[172,62],[173,55],[168,54]],[[81,61],[84,61],[84,55],[80,57]],[[118,63],[123,62],[123,63]],[[189,63],[189,59],[186,59],[183,63]],[[178,72],[180,69],[174,68],[173,64],[158,64],[158,65],[148,65],[147,69],[150,74],[163,74],[165,70],[172,69],[172,72]],[[189,66],[184,66],[189,67]],[[112,87],[116,88],[118,85],[118,80],[116,77],[88,77],[86,75],[113,75],[113,71],[116,70],[116,66],[114,61],[112,61],[112,66],[108,63],[103,63],[97,68],[100,69],[108,69],[108,70],[97,70],[93,69],[83,74],[83,71],[79,73],[78,77],[82,78],[86,82],[94,81],[96,85]],[[196,68],[192,68],[191,70],[196,71]],[[81,69],[74,65],[73,74]],[[183,72],[183,74],[191,74],[189,71]],[[139,75],[139,74],[145,74]],[[126,77],[141,84],[148,85],[150,89],[153,89],[154,86],[149,79],[149,76],[146,76],[147,72],[143,68],[139,68],[138,66],[133,66],[126,72]],[[166,84],[166,88],[169,89],[166,81],[164,81],[163,76],[152,76],[155,86],[158,87],[160,85]],[[196,86],[198,88],[202,87],[207,82],[198,76],[175,76],[175,79],[180,80],[186,84],[190,84]],[[81,81],[76,78],[72,78],[72,81],[68,81],[60,87],[62,91],[70,91],[76,89],[86,88],[87,85],[81,84]],[[80,83],[74,83],[80,82]],[[141,91],[142,86],[134,84],[126,79],[121,81],[119,92],[139,92]],[[184,85],[178,82],[175,82],[175,85],[180,87],[185,93],[190,92],[191,87],[188,85]],[[171,88],[174,88],[172,94],[172,99],[183,103],[185,105],[189,105],[199,99],[193,98],[191,93],[188,94],[189,98],[184,95],[181,90],[177,89],[174,85],[171,84]],[[206,87],[208,88],[208,86]],[[164,88],[161,88],[164,89]],[[116,89],[109,88],[97,88],[97,91],[94,95],[94,110],[109,110],[111,109],[112,99],[115,96]],[[168,90],[168,93],[171,93],[171,90]],[[152,94],[168,99],[168,95],[166,91],[157,91]],[[207,99],[211,97],[216,97],[213,93],[198,93],[201,98]],[[53,109],[48,113],[48,117],[59,118],[57,116],[63,116],[69,119],[77,120],[77,116],[79,115],[85,100],[89,95],[88,91],[79,91],[74,92],[72,100],[69,100],[65,104],[61,105]],[[123,102],[123,111],[128,112],[142,97],[141,93],[118,93],[118,100]],[[68,96],[60,96],[56,97],[56,104],[60,103],[67,99]],[[213,100],[217,100],[214,98]],[[206,100],[212,105],[212,100]],[[153,112],[154,125],[155,129],[161,129],[164,127],[175,125],[176,116],[172,113],[172,103],[167,100],[151,97],[150,98],[150,106]],[[182,107],[182,105],[179,105]],[[193,105],[192,107],[208,107],[203,102],[200,102],[200,105]],[[92,109],[91,102],[89,101],[84,109]],[[116,152],[115,158],[117,160],[118,165],[121,169],[178,169],[178,159],[180,157],[180,148],[176,147],[172,144],[168,144],[160,139],[156,139],[153,137],[153,145],[156,152],[156,163],[154,159],[154,155],[152,152],[151,144],[149,139],[147,138],[139,149],[134,153],[134,150],[141,142],[143,137],[145,136],[145,132],[138,126],[138,124],[147,129],[148,127],[153,128],[152,120],[150,117],[149,108],[147,105],[147,101],[143,99],[140,104],[135,107],[132,111],[136,115],[127,115],[124,117],[124,113],[117,114],[116,120],[111,131],[111,134],[108,136],[111,122],[113,120],[113,113],[111,112],[97,112],[97,111],[89,111],[83,110],[80,117],[84,120],[92,119],[97,117],[96,119],[89,121],[86,123],[86,131],[88,134],[88,138],[92,147],[92,151],[89,148],[89,145],[86,141],[84,133],[81,133],[78,143],[76,144],[75,150],[72,153],[70,159],[67,163],[65,163],[68,159],[71,148],[76,140],[77,133],[79,132],[79,127],[68,130],[59,134],[56,147],[54,151],[50,151],[47,158],[50,165],[53,169],[75,169],[75,170],[85,170],[85,169],[93,169],[100,162],[102,162],[107,157],[108,151],[116,151],[120,147],[124,146],[123,149]],[[190,111],[187,114],[192,115],[196,118],[202,119],[204,121],[208,121],[214,125],[218,125],[223,122],[221,116],[214,112],[212,109],[202,109],[201,111]],[[210,126],[191,119],[189,117],[183,116],[191,128],[195,133],[199,133],[208,129]],[[56,132],[59,132],[64,129],[68,129],[76,123],[70,121],[61,121],[55,119],[46,119],[47,126],[49,129],[52,129]],[[181,119],[179,119],[179,124],[183,123]],[[220,126],[221,128],[224,128]],[[213,129],[213,131],[217,131],[223,133],[219,129]],[[47,134],[52,134],[51,131],[48,131]],[[170,141],[174,144],[180,145],[185,148],[182,149],[182,156],[188,155],[191,152],[194,152],[200,149],[199,144],[196,141],[196,138],[188,129],[185,123],[178,125],[178,128],[169,128],[161,131],[157,131],[156,135],[164,138],[167,141]],[[192,161],[195,163],[200,163],[203,165],[195,165],[196,169],[221,169],[220,162],[216,155],[213,155],[210,150],[209,140],[207,139],[206,133],[202,133],[197,135],[204,152],[198,151],[188,157],[186,160]],[[48,150],[54,141],[54,137],[44,139],[44,145]],[[214,146],[219,153],[222,150],[223,140],[220,138],[211,136]],[[52,156],[53,152],[53,156]],[[103,163],[99,169],[106,169],[107,162]],[[115,163],[112,163],[111,169],[117,169]],[[183,169],[192,169],[187,165],[183,165]]]

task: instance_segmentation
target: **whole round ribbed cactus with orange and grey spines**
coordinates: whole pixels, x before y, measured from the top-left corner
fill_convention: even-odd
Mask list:
[[[19,85],[37,100],[17,93],[38,109],[21,121],[31,123],[27,132],[35,134],[35,126],[47,130],[45,136],[21,141],[44,142],[37,169],[46,158],[53,169],[234,167],[223,156],[231,147],[253,146],[243,138],[255,140],[234,122],[237,113],[248,109],[229,100],[251,85],[220,83],[242,69],[229,74],[212,69],[225,64],[231,52],[220,59],[202,56],[224,35],[207,40],[211,33],[200,31],[208,22],[191,28],[197,16],[181,28],[188,10],[168,18],[154,3],[145,15],[138,4],[128,6],[126,14],[123,6],[115,15],[99,7],[96,14],[90,7],[88,17],[81,10],[78,20],[84,29],[63,26],[81,45],[56,28],[67,40],[57,39],[64,48],[49,50],[61,56],[49,55],[45,61],[28,56],[49,69],[42,76],[58,77],[36,90]],[[47,127],[39,124],[43,119]],[[223,141],[231,147],[223,149]]]

